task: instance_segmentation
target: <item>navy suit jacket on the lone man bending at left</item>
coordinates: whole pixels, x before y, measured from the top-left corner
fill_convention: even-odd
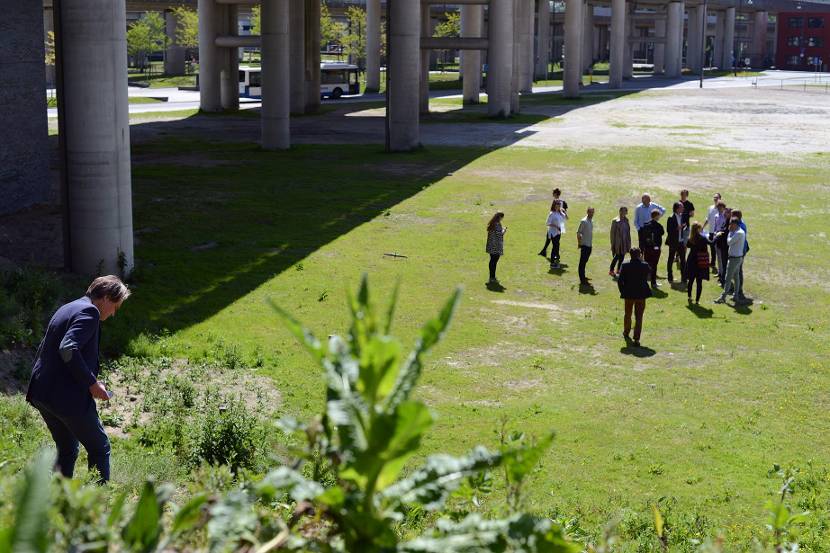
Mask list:
[[[26,400],[39,401],[55,413],[85,413],[98,379],[100,313],[84,296],[60,307],[40,342]]]

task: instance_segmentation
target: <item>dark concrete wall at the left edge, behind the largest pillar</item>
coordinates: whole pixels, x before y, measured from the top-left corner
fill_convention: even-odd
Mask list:
[[[43,4],[0,0],[0,213],[49,192]]]

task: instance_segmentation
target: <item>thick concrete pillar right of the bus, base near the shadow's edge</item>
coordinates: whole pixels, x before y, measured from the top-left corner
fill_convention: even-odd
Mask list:
[[[315,0],[317,1],[317,0]],[[393,152],[418,147],[418,84],[421,59],[420,2],[393,2],[389,10],[389,148]]]

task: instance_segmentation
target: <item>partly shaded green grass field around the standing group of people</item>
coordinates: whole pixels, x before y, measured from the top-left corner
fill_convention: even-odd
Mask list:
[[[589,533],[622,520],[632,541],[621,551],[648,550],[635,538],[655,504],[688,527],[690,540],[723,535],[729,550],[749,550],[763,541],[764,504],[779,492],[773,466],[790,467],[813,483],[796,494],[813,517],[805,549],[830,547],[822,530],[830,513],[830,157],[624,145],[406,155],[332,145],[274,154],[170,138],[135,146],[134,155],[144,160],[133,168],[136,282],[105,325],[107,351],[231,355],[273,381],[280,413],[306,417],[324,399],[321,375],[269,301],[325,336],[345,330],[344,291],[361,274],[380,297],[400,282],[396,331],[412,342],[461,285],[461,308],[422,379],[437,418],[428,450],[492,445],[504,420],[534,435],[556,430],[528,491],[531,508]],[[536,255],[553,187],[570,204],[566,267],[555,273]],[[622,302],[607,276],[609,221],[643,191],[666,206],[680,188],[691,190],[695,218],[715,191],[743,209],[754,303],[713,305],[720,290],[709,281],[701,304],[687,305],[685,289],[663,281],[648,301],[644,347],[626,348]],[[575,230],[589,205],[597,213],[586,290]],[[484,284],[484,226],[495,211],[509,229],[500,292]],[[135,447],[116,441],[116,462]],[[132,478],[142,470],[150,469],[136,467]]]

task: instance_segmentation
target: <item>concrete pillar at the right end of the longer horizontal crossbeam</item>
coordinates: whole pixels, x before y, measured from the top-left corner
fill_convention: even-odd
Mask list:
[[[488,10],[487,113],[508,117],[513,78],[513,0],[490,0]]]

